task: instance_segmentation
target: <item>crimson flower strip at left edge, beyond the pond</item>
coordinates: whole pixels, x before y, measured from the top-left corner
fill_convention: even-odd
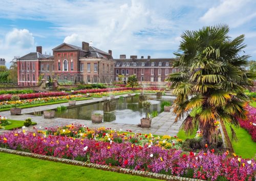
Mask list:
[[[32,93],[32,94],[17,94],[19,99],[34,99],[34,98],[45,98],[45,97],[56,97],[56,96],[66,96],[66,93],[62,92],[50,92],[50,93]],[[0,95],[0,101],[9,101],[13,95],[6,94]]]

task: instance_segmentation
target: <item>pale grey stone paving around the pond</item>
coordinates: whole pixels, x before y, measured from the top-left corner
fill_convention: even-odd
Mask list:
[[[121,95],[123,97],[127,97],[127,95]],[[119,98],[119,96],[116,96],[116,98]],[[89,100],[83,100],[83,101],[76,101],[76,105],[80,104],[90,104],[95,102],[102,102],[102,98],[93,98]],[[34,111],[42,111],[47,109],[56,109],[58,106],[64,105],[69,106],[68,103],[61,103],[61,104],[52,104],[52,105],[45,105],[45,106],[39,106],[39,107],[31,107],[31,108],[24,108],[22,109],[23,115],[10,115],[10,111],[2,111],[0,112],[1,116],[6,116],[8,119],[12,120],[25,120],[27,118],[31,118],[32,121],[36,122],[37,129],[44,129],[44,127],[51,127],[51,126],[61,126],[66,124],[82,124],[86,125],[88,127],[109,127],[112,129],[122,129],[123,131],[129,129],[133,132],[142,132],[142,133],[152,133],[157,135],[164,135],[168,134],[171,136],[177,135],[179,128],[183,122],[183,120],[180,120],[178,123],[174,123],[175,116],[173,115],[173,111],[171,109],[170,112],[162,112],[157,117],[152,119],[151,128],[141,128],[138,127],[135,124],[121,124],[121,123],[112,123],[112,122],[103,122],[100,124],[92,123],[88,120],[78,120],[78,119],[65,119],[65,118],[53,118],[53,119],[45,119],[42,116],[34,116],[34,115],[28,115],[30,112]],[[29,129],[32,129],[32,127],[29,127]],[[3,133],[5,130],[0,129],[0,133]]]

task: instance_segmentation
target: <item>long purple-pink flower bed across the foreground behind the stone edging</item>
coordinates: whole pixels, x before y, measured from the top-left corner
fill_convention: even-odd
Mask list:
[[[155,173],[191,176],[199,179],[254,180],[256,162],[228,152],[214,151],[183,154],[177,149],[140,146],[132,143],[109,143],[94,139],[75,139],[56,135],[42,137],[36,132],[10,131],[0,135],[0,146],[65,159],[111,165]],[[223,179],[224,180],[224,179]]]

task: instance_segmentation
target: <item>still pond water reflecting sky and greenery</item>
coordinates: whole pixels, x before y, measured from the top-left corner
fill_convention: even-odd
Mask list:
[[[174,97],[163,96],[161,99],[156,99],[156,96],[147,96],[148,101],[151,102],[151,107],[147,109],[147,112],[157,110],[161,112],[161,102],[174,100]],[[94,112],[103,114],[103,122],[114,122],[123,124],[139,124],[140,119],[145,117],[145,109],[142,107],[142,103],[139,102],[139,97],[133,96],[123,99],[117,99],[116,110],[112,112],[103,112],[103,102],[82,105],[78,107],[68,108],[61,112],[56,111],[55,117],[57,118],[70,118],[91,120],[91,115]]]

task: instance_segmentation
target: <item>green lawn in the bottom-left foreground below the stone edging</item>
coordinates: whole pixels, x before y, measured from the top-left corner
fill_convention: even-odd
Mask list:
[[[0,152],[0,180],[158,180]]]

